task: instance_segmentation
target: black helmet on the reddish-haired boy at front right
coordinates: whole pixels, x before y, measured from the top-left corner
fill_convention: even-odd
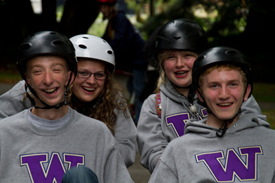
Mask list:
[[[199,88],[199,76],[201,73],[217,64],[240,66],[241,70],[245,73],[248,84],[251,86],[250,95],[252,94],[253,80],[250,63],[243,53],[231,47],[214,47],[198,56],[192,68],[192,87],[194,90]]]

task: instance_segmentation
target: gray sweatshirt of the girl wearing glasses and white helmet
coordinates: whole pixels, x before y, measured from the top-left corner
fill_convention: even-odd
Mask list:
[[[0,119],[10,117],[22,110],[32,108],[32,103],[25,97],[25,81],[18,82],[12,89],[0,96]],[[137,129],[133,119],[124,117],[123,110],[114,110],[117,114],[115,122],[115,143],[126,164],[130,167],[137,154]],[[127,111],[129,114],[129,110]]]

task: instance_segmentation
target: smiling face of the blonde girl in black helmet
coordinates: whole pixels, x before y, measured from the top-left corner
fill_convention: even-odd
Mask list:
[[[192,66],[197,58],[189,51],[173,51],[164,59],[164,70],[171,82],[180,87],[192,83]]]

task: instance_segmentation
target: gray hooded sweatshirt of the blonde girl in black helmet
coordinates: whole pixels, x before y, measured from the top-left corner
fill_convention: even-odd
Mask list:
[[[162,118],[157,117],[155,108],[155,94],[150,95],[142,106],[140,119],[137,123],[137,143],[140,149],[141,164],[151,173],[157,165],[157,159],[162,155],[165,147],[175,138],[184,135],[186,121],[192,119],[187,108],[190,101],[180,95],[165,78],[165,85],[160,86]],[[193,106],[196,106],[199,119],[206,119],[206,108],[197,104],[197,95],[193,99]],[[253,97],[243,102],[243,114],[261,114],[261,109]]]

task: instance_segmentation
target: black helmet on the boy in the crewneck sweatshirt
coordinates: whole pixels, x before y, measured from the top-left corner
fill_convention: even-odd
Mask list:
[[[77,74],[77,60],[72,42],[58,32],[36,32],[25,38],[19,47],[17,69],[25,79],[26,64],[30,58],[43,55],[62,56],[67,61],[69,70]]]

